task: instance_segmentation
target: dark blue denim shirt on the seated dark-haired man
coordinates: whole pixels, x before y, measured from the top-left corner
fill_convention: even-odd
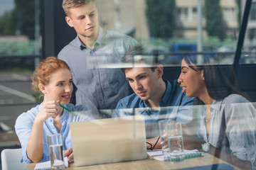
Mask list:
[[[193,119],[191,106],[195,98],[189,98],[186,94],[183,94],[177,80],[164,81],[167,86],[164,97],[159,103],[160,111],[152,110],[137,94],[131,94],[117,103],[117,108],[113,111],[112,118],[125,115],[144,115],[147,138],[159,135],[158,121],[161,119],[176,120],[184,124],[190,122]]]

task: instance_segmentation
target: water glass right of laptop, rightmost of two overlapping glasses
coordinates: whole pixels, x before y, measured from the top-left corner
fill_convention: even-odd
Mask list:
[[[182,162],[185,157],[183,155],[183,136],[181,123],[170,122],[166,126],[171,162]]]

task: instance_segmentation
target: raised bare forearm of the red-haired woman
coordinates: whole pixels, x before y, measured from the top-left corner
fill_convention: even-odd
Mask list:
[[[40,162],[43,157],[43,123],[34,122],[26,148],[28,159]]]

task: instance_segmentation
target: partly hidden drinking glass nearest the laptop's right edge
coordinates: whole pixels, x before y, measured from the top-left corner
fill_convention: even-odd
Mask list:
[[[161,137],[161,142],[164,140],[167,140],[167,120],[159,120],[159,132],[160,132],[160,137]],[[166,147],[168,145],[168,142],[164,143],[164,145],[161,145],[162,151],[164,154],[164,160],[165,161],[170,161],[170,153],[169,153],[169,147]],[[164,148],[166,147],[166,148]]]

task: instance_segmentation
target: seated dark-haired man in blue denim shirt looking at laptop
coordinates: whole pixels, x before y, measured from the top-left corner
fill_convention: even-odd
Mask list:
[[[125,115],[144,115],[146,118],[146,137],[159,135],[158,121],[176,120],[188,123],[193,114],[191,105],[194,98],[188,98],[181,91],[177,80],[162,79],[164,68],[154,62],[156,56],[142,55],[141,46],[132,47],[122,62],[132,64],[122,68],[134,94],[122,98],[112,113],[112,118]],[[171,106],[171,107],[170,107]]]

